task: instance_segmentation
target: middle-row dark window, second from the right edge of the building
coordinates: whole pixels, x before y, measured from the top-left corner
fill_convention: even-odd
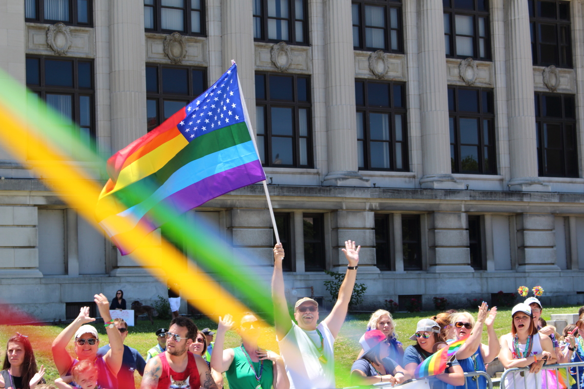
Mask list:
[[[496,174],[492,90],[449,87],[448,105],[452,172]]]

